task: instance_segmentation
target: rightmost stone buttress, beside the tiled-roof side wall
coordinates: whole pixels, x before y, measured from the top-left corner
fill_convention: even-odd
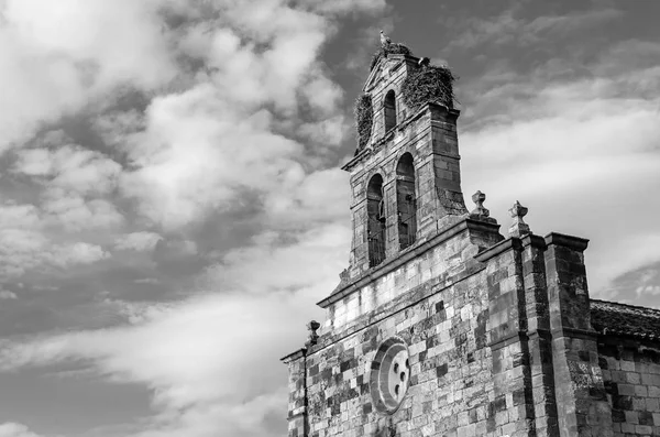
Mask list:
[[[561,233],[546,237],[554,394],[562,437],[614,435],[591,325],[583,254],[587,243]]]

